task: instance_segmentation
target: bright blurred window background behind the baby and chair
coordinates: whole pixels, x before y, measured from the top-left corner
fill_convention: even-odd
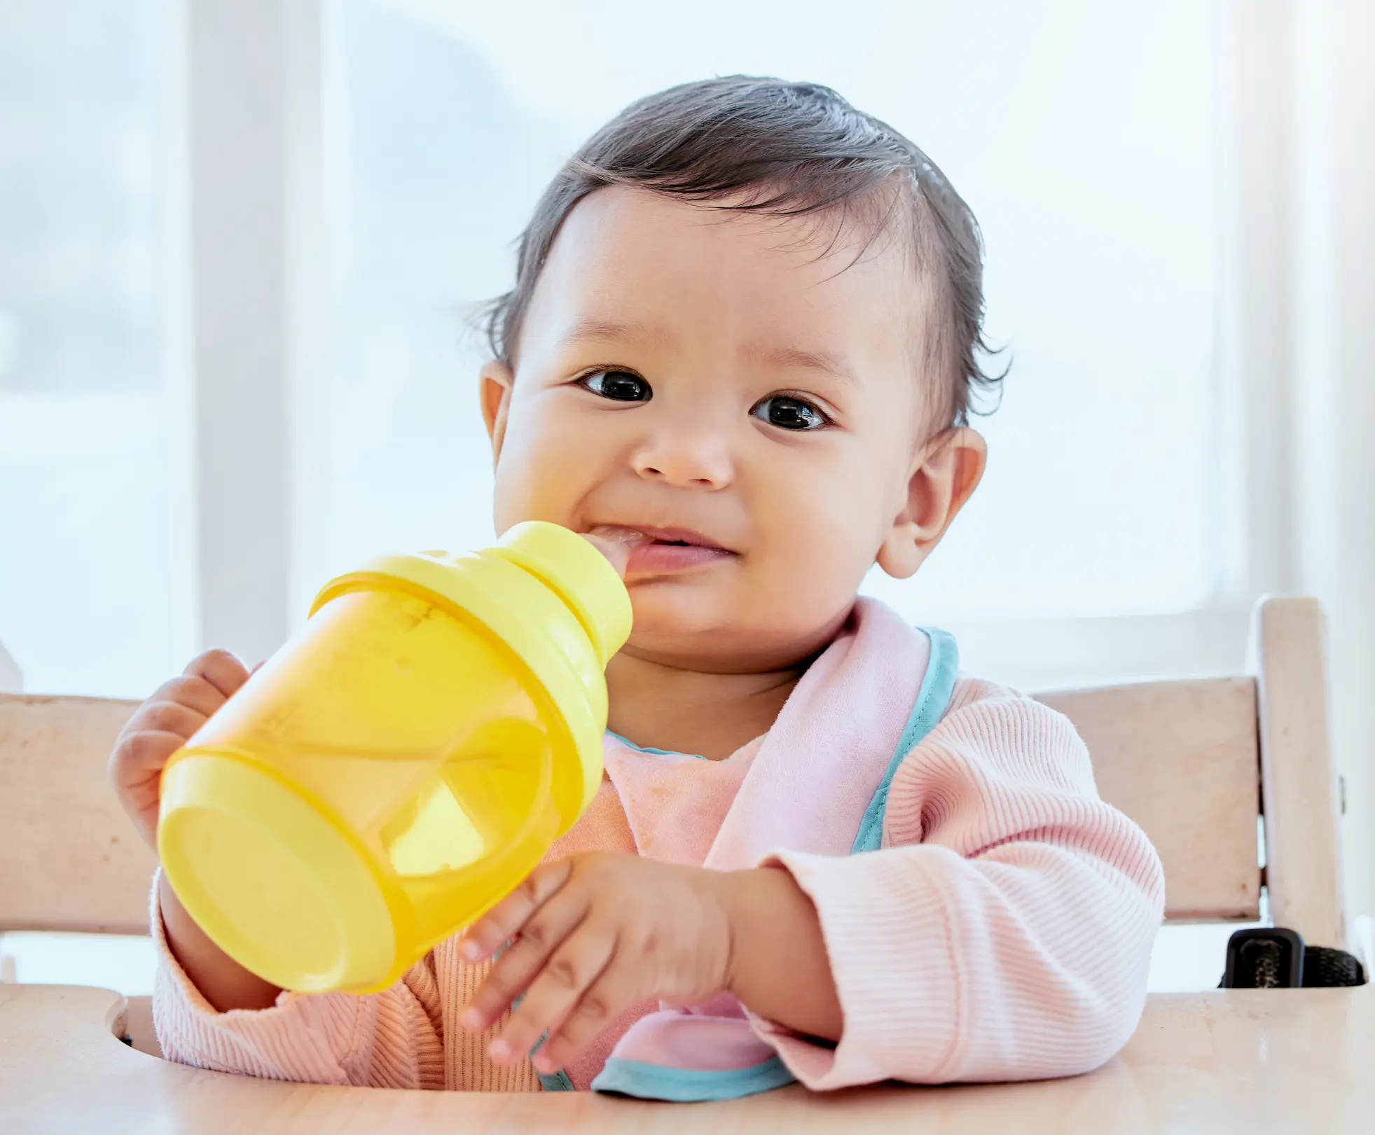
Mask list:
[[[983,488],[868,589],[1028,688],[1239,672],[1260,595],[1319,595],[1375,911],[1372,54],[1367,0],[0,0],[0,688],[142,697],[488,540],[470,320],[547,179],[649,91],[806,78],[974,207],[1012,364]]]

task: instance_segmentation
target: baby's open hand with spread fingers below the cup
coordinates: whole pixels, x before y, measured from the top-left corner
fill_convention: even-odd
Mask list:
[[[484,1029],[525,993],[492,1042],[492,1058],[522,1059],[549,1029],[535,1068],[554,1072],[632,1004],[705,1000],[729,978],[727,878],[610,852],[546,863],[465,932],[462,949],[472,962],[516,941],[473,995],[462,1024]]]

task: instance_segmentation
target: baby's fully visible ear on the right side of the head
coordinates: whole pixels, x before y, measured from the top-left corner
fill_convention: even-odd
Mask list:
[[[884,572],[896,580],[916,573],[979,486],[987,460],[983,434],[968,426],[945,430],[921,447],[908,477],[906,500],[879,548],[877,563]]]

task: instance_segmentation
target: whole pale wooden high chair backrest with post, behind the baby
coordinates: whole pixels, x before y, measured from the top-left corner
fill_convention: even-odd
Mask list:
[[[1167,919],[1255,921],[1264,882],[1276,925],[1345,945],[1323,638],[1316,600],[1266,599],[1254,676],[1040,697],[1088,742],[1103,797],[1159,849]],[[0,695],[0,932],[146,932],[153,855],[104,771],[133,706]]]

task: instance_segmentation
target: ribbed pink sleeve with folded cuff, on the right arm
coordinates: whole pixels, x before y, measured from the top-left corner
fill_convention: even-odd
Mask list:
[[[961,680],[894,776],[881,851],[773,862],[815,903],[844,1011],[835,1047],[756,1021],[810,1088],[1075,1075],[1141,1015],[1159,857],[1030,698]]]

